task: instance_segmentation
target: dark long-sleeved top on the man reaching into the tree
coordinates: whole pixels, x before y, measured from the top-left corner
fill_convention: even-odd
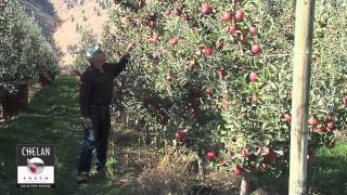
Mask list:
[[[89,117],[90,105],[107,107],[112,102],[114,78],[125,69],[129,55],[118,63],[105,63],[104,73],[89,66],[80,76],[79,104],[83,117]]]

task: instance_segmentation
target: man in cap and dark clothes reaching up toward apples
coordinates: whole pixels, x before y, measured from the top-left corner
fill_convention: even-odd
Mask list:
[[[91,168],[92,151],[97,148],[95,166],[101,171],[105,167],[108,131],[111,128],[110,104],[113,96],[114,78],[126,67],[131,42],[118,63],[106,62],[105,54],[99,47],[87,51],[90,66],[80,76],[79,104],[83,117],[83,142],[78,165],[78,182],[88,180]]]

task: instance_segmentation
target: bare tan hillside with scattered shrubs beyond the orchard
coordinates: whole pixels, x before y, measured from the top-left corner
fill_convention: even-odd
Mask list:
[[[34,13],[48,40],[60,50],[60,66],[73,62],[67,48],[78,42],[83,29],[91,29],[100,35],[102,25],[107,20],[106,10],[94,0],[26,0],[24,3],[26,11]]]

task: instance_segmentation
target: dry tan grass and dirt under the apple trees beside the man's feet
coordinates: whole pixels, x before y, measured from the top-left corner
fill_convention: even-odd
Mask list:
[[[239,178],[205,169],[200,174],[197,155],[187,148],[144,143],[145,132],[115,121],[107,172],[133,194],[239,194]],[[132,126],[133,127],[133,126]],[[121,130],[120,130],[121,129]]]

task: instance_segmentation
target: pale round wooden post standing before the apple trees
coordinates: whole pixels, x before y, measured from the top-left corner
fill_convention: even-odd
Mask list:
[[[296,1],[292,93],[290,195],[306,194],[314,0]]]

